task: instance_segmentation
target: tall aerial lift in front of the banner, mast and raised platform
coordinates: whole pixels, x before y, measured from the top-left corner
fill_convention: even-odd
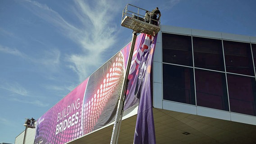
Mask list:
[[[127,27],[133,30],[133,39],[132,39],[132,45],[131,45],[131,49],[128,57],[126,71],[125,71],[125,77],[123,80],[122,93],[119,97],[118,108],[115,115],[110,144],[118,144],[119,131],[120,131],[120,126],[121,126],[122,117],[123,117],[123,105],[125,101],[125,92],[129,82],[128,75],[131,67],[131,61],[133,58],[133,51],[134,51],[134,46],[137,38],[137,33],[145,33],[151,36],[155,36],[158,33],[158,31],[160,31],[160,19],[158,21],[152,19],[151,18],[152,13],[151,11],[149,11],[150,17],[148,18],[149,23],[147,23],[146,17],[145,17],[146,11],[148,10],[139,8],[131,4],[127,4],[123,9],[121,26]],[[157,25],[151,24],[153,21],[157,22]]]

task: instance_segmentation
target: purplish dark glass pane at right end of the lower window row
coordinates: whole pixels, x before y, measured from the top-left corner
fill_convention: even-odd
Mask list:
[[[227,74],[230,111],[256,116],[255,77]]]

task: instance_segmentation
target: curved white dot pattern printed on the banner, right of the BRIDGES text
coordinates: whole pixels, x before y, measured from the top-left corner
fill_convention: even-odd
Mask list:
[[[100,75],[100,79],[95,81],[91,80],[93,78],[90,77],[88,81],[88,85],[93,86],[90,86],[91,89],[87,88],[87,92],[92,95],[91,99],[84,98],[82,108],[83,135],[96,129],[98,120],[101,119],[102,115],[104,115],[102,112],[105,112],[105,109],[109,107],[109,103],[111,103],[109,102],[110,99],[113,99],[113,97],[119,97],[124,73],[123,55],[121,53],[116,54],[110,59],[110,61],[108,61],[108,63],[105,64],[105,67],[101,68],[104,70],[98,74]],[[94,75],[95,74],[96,73],[94,73]],[[88,95],[85,95],[85,97],[87,96]]]

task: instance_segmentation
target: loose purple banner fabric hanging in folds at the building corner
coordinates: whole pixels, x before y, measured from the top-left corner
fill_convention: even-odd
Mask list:
[[[136,97],[139,98],[139,108],[133,140],[134,144],[156,144],[150,79],[156,38],[157,35],[146,35],[144,46],[142,46],[145,48],[148,46],[148,50],[141,59],[135,88]]]

